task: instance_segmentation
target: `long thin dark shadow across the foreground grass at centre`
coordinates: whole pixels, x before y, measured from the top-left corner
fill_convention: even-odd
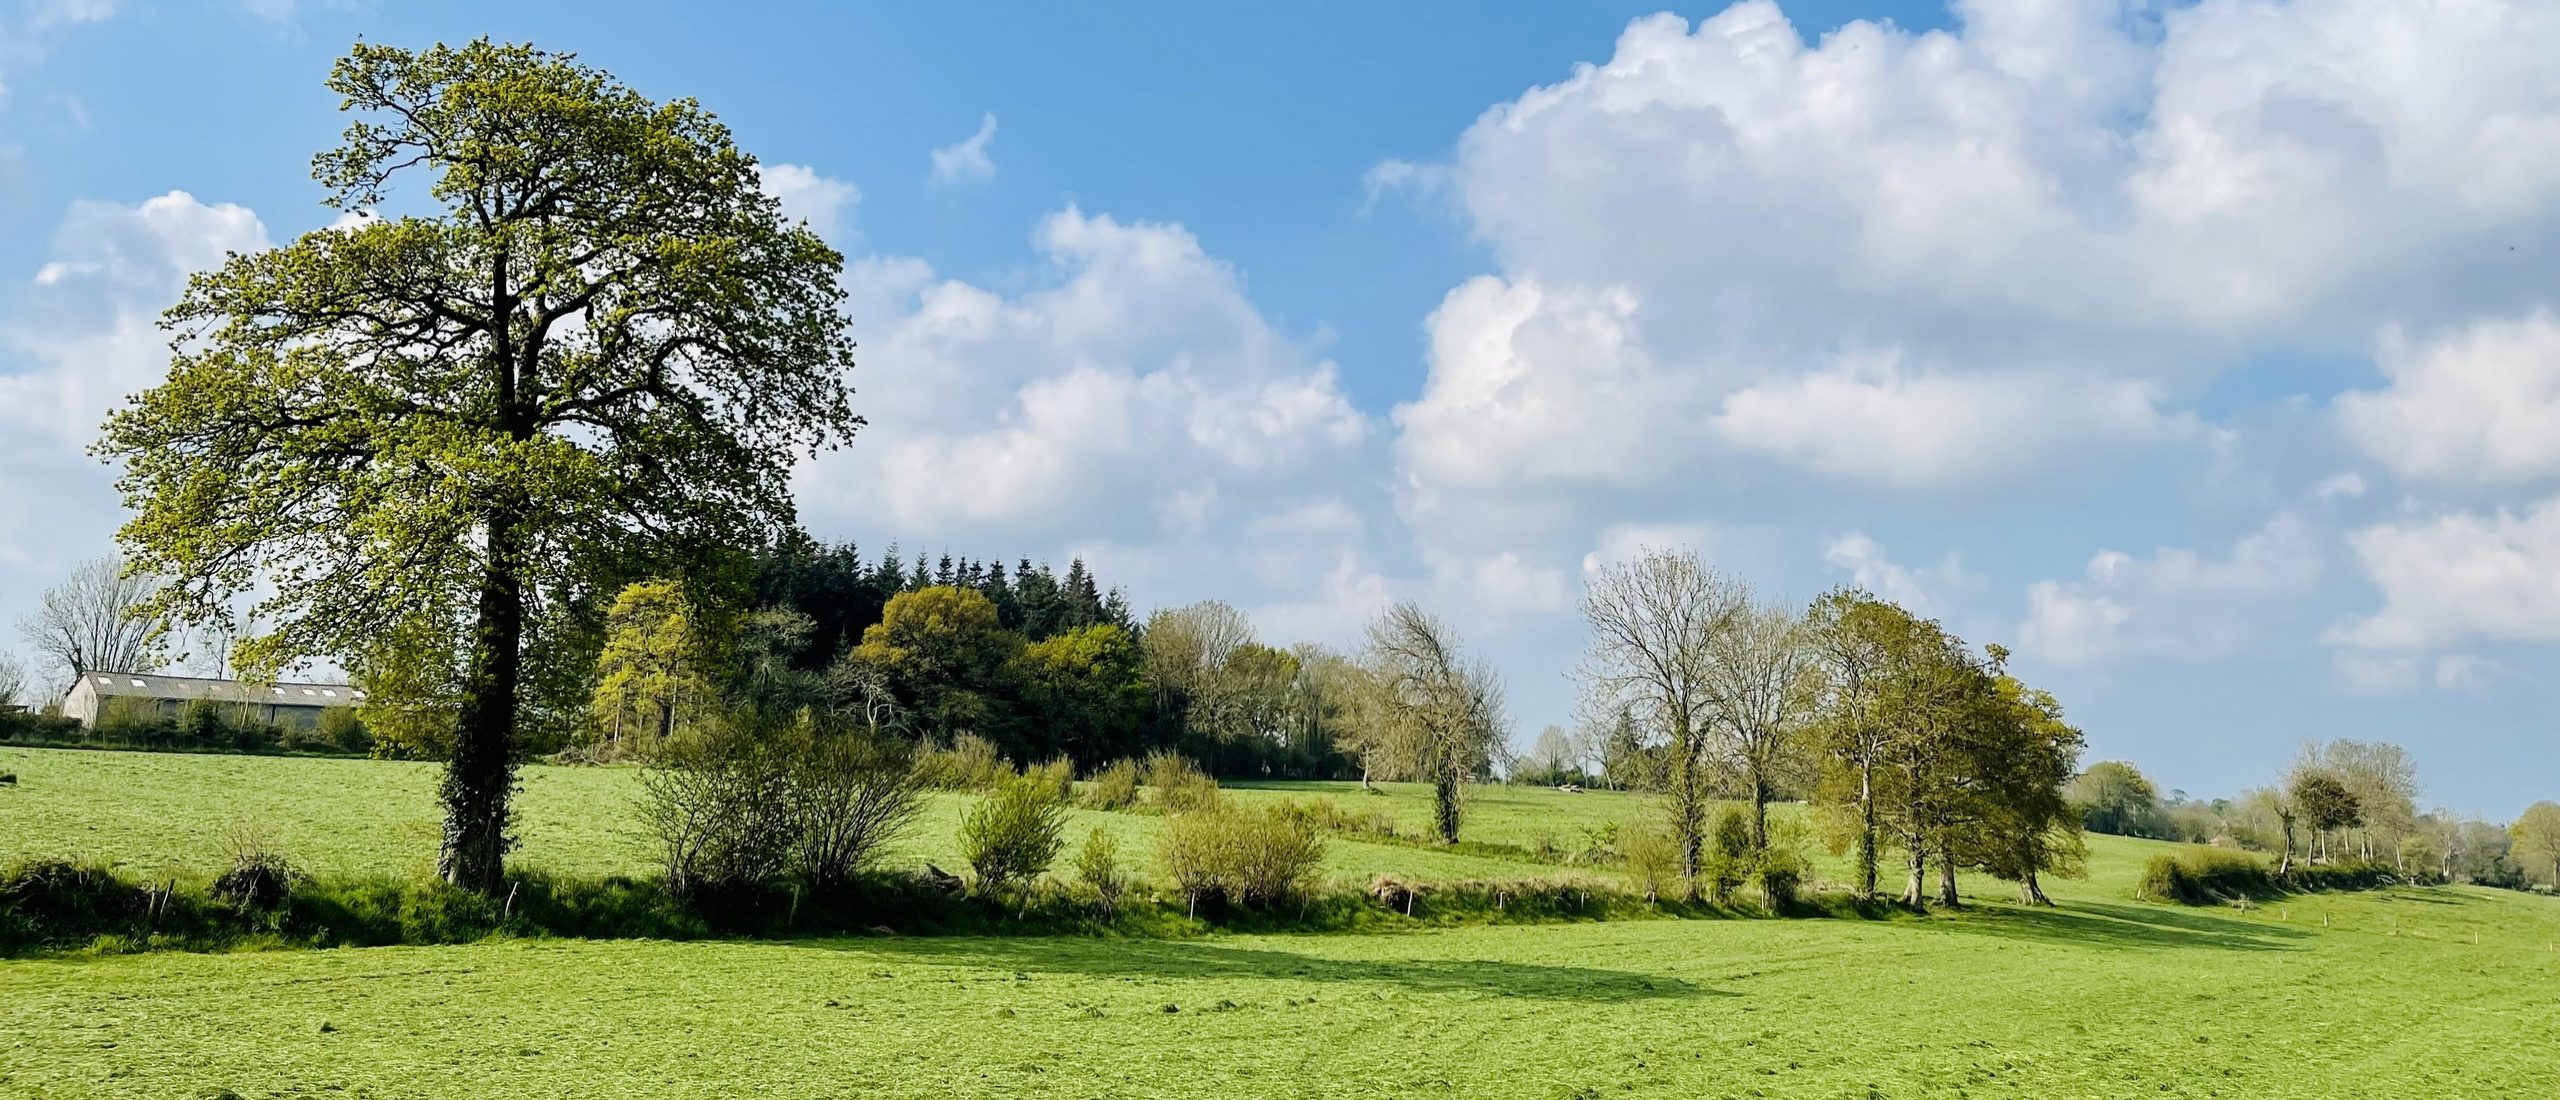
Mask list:
[[[904,939],[812,941],[840,952],[919,962],[1096,977],[1265,977],[1400,985],[1421,993],[1492,993],[1539,1000],[1736,998],[1679,977],[1492,959],[1347,962],[1308,954],[1147,939]]]

